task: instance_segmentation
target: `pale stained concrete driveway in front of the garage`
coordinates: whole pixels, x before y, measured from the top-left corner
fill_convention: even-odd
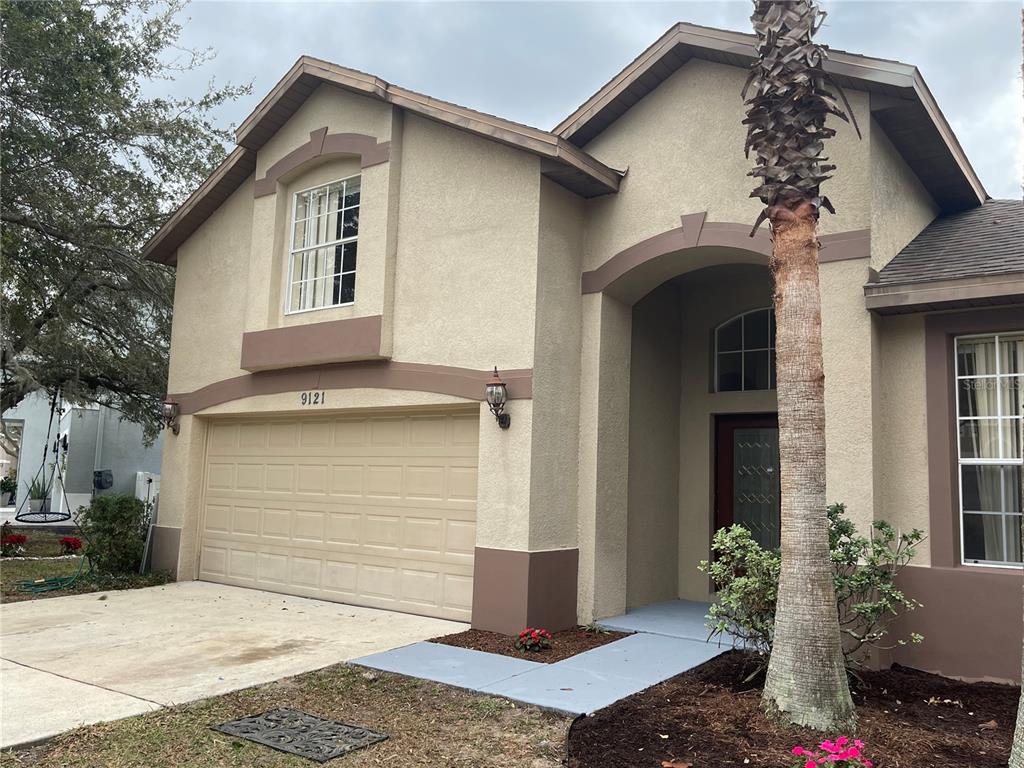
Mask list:
[[[464,629],[204,582],[0,605],[0,746]]]

